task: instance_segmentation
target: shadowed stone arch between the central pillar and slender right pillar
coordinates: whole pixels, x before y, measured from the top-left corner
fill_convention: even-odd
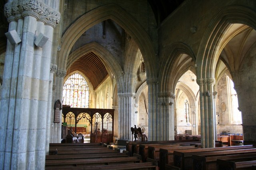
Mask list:
[[[192,59],[192,61],[196,60],[196,57],[194,55],[194,52],[192,49],[186,45],[185,43],[182,42],[176,42],[173,43],[170,49],[164,53],[165,59],[163,60],[162,65],[160,66],[160,75],[159,75],[159,84],[160,84],[160,91],[173,91],[176,86],[176,82],[178,82],[178,79],[182,74],[184,74],[188,69],[190,69],[194,74],[195,72],[195,66],[194,63],[188,62],[184,66],[180,67],[181,65],[179,64],[179,57],[182,54],[188,55],[187,59]],[[175,68],[180,67],[179,71],[177,72]],[[174,80],[175,79],[175,80]],[[171,84],[171,88],[170,85]]]

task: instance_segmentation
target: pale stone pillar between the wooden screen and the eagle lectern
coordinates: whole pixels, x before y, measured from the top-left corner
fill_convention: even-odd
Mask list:
[[[131,127],[137,123],[134,116],[134,100],[134,93],[118,94],[118,139],[129,141],[132,139]]]

